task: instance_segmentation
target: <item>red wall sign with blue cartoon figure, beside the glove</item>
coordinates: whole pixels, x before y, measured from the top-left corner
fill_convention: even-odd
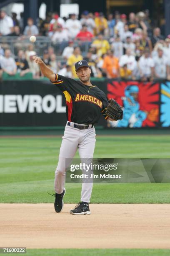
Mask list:
[[[134,120],[131,125],[127,120],[117,127],[154,127],[159,119],[159,84],[152,82],[117,82],[107,83],[107,98],[115,99],[124,107],[125,118]],[[133,116],[133,118],[132,118]],[[131,119],[130,119],[131,118]]]

